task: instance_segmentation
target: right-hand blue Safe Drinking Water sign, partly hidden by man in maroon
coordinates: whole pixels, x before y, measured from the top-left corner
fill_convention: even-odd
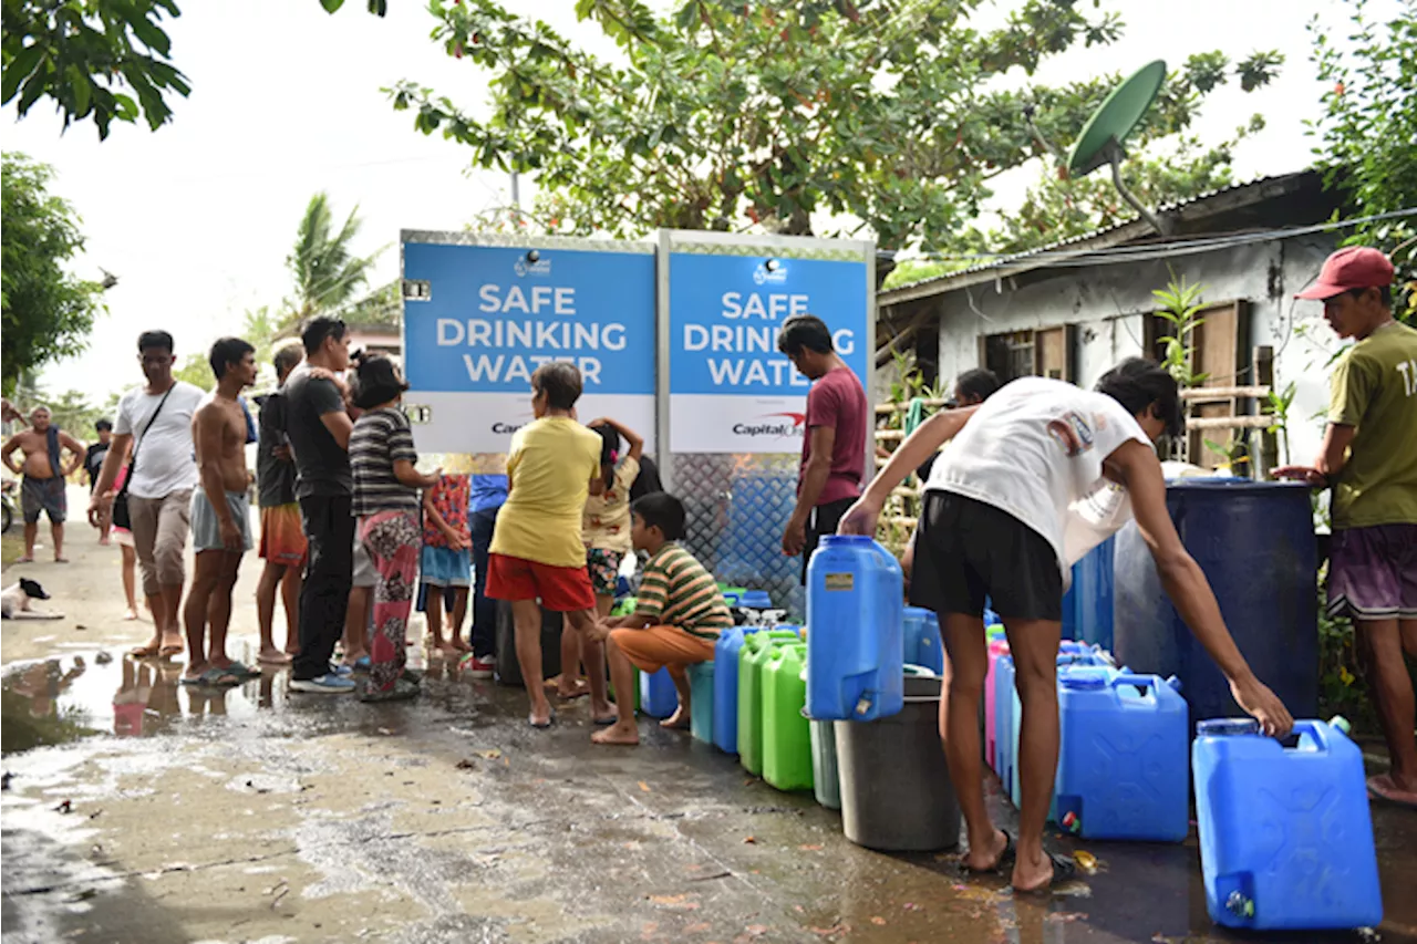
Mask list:
[[[669,427],[673,452],[796,452],[811,381],[778,353],[792,315],[816,315],[869,383],[870,300],[862,261],[669,257]]]

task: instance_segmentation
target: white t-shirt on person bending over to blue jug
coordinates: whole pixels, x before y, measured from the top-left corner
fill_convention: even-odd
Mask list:
[[[1131,439],[1152,445],[1107,394],[1023,377],[979,407],[925,489],[965,495],[1027,524],[1053,546],[1067,585],[1073,564],[1131,519],[1125,490],[1102,478],[1102,461]]]

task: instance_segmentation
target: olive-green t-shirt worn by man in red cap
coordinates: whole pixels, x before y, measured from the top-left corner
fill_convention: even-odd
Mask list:
[[[1333,371],[1329,422],[1356,427],[1333,486],[1333,527],[1417,524],[1417,330],[1391,323]]]

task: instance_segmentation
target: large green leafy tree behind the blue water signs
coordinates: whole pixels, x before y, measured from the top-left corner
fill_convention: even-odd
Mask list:
[[[847,235],[887,249],[958,248],[990,181],[1067,142],[1117,75],[1000,88],[1047,58],[1105,45],[1112,14],[1026,0],[995,30],[978,0],[580,0],[621,47],[611,62],[497,0],[431,0],[434,37],[492,91],[490,109],[401,82],[415,128],[468,145],[480,167],[530,172],[551,230],[635,237],[659,227]],[[1192,57],[1132,139],[1185,132],[1229,78],[1264,85],[1278,57]]]

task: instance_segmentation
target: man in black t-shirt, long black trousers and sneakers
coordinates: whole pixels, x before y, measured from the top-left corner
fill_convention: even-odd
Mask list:
[[[330,666],[344,629],[344,607],[354,580],[353,478],[349,442],[354,424],[344,390],[334,378],[349,369],[344,322],[312,318],[300,332],[305,364],[285,381],[285,434],[295,454],[295,498],[309,540],[300,591],[300,652],[292,692],[343,695],[354,683]]]

